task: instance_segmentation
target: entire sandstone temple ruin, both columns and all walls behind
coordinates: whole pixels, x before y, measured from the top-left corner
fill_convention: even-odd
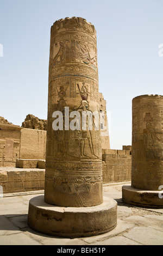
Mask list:
[[[132,145],[110,149],[95,27],[82,17],[55,21],[47,120],[28,114],[20,127],[0,117],[0,192],[44,190],[29,202],[28,225],[62,237],[116,227],[117,202],[103,197],[105,184],[131,181],[122,187],[124,203],[163,208],[162,99],[135,97]]]

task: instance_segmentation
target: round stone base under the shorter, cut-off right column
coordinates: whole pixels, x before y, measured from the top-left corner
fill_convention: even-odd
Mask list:
[[[145,208],[163,208],[161,191],[139,190],[131,186],[123,186],[122,200],[124,203]]]

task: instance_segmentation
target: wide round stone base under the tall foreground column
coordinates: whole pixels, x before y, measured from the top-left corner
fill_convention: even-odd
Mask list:
[[[30,199],[30,228],[61,237],[86,237],[104,234],[116,227],[117,202],[104,197],[103,203],[90,207],[61,207],[47,204],[44,196]]]

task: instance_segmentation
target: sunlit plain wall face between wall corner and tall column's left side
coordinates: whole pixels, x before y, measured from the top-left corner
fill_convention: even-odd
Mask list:
[[[45,159],[46,131],[21,130],[21,159]]]

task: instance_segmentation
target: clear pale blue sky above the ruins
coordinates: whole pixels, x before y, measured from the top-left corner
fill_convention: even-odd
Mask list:
[[[83,17],[97,31],[111,149],[131,145],[133,97],[163,95],[163,1],[0,0],[0,10],[0,116],[20,126],[27,114],[47,119],[51,26]]]

